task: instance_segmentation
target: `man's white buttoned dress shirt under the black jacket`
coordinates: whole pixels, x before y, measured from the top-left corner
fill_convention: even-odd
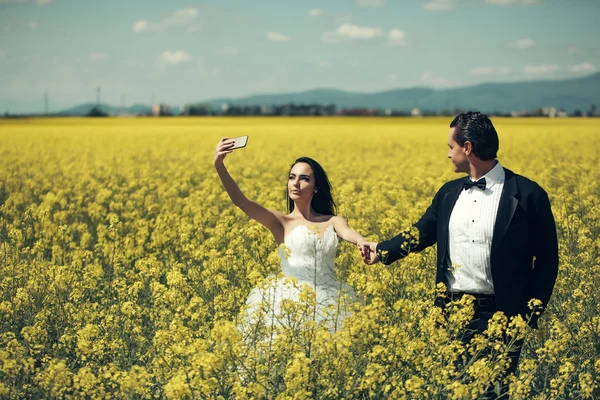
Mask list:
[[[494,293],[490,252],[504,187],[500,162],[483,178],[485,190],[476,186],[461,190],[450,215],[448,252],[452,265],[446,270],[446,278],[453,292]]]

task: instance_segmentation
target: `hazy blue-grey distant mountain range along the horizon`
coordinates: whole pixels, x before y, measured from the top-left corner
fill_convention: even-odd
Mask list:
[[[408,111],[420,108],[423,111],[442,112],[457,108],[482,112],[535,110],[541,107],[556,107],[567,112],[576,109],[586,111],[591,104],[600,106],[600,73],[568,80],[545,80],[517,83],[484,83],[475,86],[430,89],[394,89],[374,93],[348,92],[336,89],[314,89],[296,93],[262,94],[241,98],[216,98],[194,104],[208,104],[220,108],[231,105],[281,105],[335,104],[338,108],[378,108]],[[65,109],[60,115],[86,115],[95,103],[81,104]],[[100,104],[100,109],[109,115],[119,115],[121,108]],[[136,104],[123,110],[126,114],[147,114],[151,107]],[[176,111],[176,110],[175,110]]]

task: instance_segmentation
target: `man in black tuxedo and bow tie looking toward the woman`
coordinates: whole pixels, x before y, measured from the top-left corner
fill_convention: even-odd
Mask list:
[[[368,243],[364,260],[391,264],[437,243],[436,283],[446,285],[448,298],[476,298],[471,324],[476,331],[483,332],[496,311],[508,317],[520,314],[537,327],[538,315],[531,315],[527,303],[539,299],[545,307],[558,274],[548,195],[537,183],[500,165],[498,134],[481,113],[454,118],[448,147],[454,171],[468,176],[440,188],[414,225],[418,237],[405,232]],[[516,370],[519,354],[520,349],[509,373]]]

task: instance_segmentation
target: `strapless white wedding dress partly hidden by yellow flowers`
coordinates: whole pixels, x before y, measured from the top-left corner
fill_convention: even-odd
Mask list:
[[[298,225],[285,237],[284,245],[287,249],[279,248],[284,276],[271,277],[252,289],[246,300],[247,316],[271,327],[293,328],[314,321],[332,333],[339,330],[350,314],[350,305],[359,297],[336,279],[338,237],[333,225],[327,227],[323,238],[308,226]]]

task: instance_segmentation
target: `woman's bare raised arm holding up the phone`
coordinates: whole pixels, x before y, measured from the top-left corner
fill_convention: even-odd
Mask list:
[[[270,210],[258,204],[257,202],[248,199],[244,193],[240,190],[238,185],[235,183],[223,160],[227,154],[231,153],[231,147],[233,141],[224,137],[217,144],[215,151],[215,168],[221,178],[221,183],[225,187],[229,198],[233,204],[235,204],[240,210],[242,210],[250,218],[258,221],[261,225],[265,226],[275,236],[275,241],[280,244],[283,243],[284,230],[282,225],[283,214],[280,211]]]

